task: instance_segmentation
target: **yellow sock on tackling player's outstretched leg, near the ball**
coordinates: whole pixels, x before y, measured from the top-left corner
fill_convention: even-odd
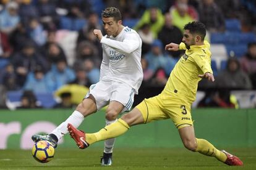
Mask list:
[[[118,119],[115,123],[105,126],[94,134],[86,134],[86,142],[91,145],[100,140],[121,136],[121,134],[124,134],[128,129],[130,129],[129,125],[122,119]]]

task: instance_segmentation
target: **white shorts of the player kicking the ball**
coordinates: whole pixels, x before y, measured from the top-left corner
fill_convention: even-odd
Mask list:
[[[134,103],[135,91],[127,84],[116,81],[99,81],[92,84],[85,95],[88,98],[92,94],[96,101],[97,110],[105,107],[110,101],[117,101],[124,105],[123,111],[129,111]]]

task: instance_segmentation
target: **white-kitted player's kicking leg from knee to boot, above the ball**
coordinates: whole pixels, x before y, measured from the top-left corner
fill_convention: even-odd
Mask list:
[[[76,110],[66,119],[63,123],[61,123],[56,129],[51,132],[51,134],[41,136],[39,134],[35,134],[32,136],[32,140],[34,142],[38,142],[39,140],[48,140],[53,144],[54,147],[57,147],[58,140],[61,139],[65,134],[67,134],[67,123],[73,124],[75,127],[78,127],[83,119],[96,111],[96,104],[93,95],[90,95],[87,99],[84,99],[82,103],[80,103]]]

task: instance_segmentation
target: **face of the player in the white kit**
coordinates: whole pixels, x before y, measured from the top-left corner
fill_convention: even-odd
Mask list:
[[[106,34],[108,36],[116,35],[119,26],[122,24],[121,20],[117,22],[116,20],[114,20],[113,17],[108,17],[108,18],[102,17],[102,22],[103,22],[103,26],[106,31]]]

